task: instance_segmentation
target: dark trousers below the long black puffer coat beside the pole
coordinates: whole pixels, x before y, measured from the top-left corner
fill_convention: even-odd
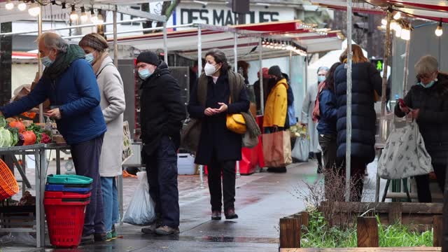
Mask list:
[[[336,161],[336,165],[339,168],[339,176],[345,176],[345,158],[339,158]],[[367,160],[365,158],[351,157],[351,202],[360,202],[363,197],[365,169],[367,169]]]

